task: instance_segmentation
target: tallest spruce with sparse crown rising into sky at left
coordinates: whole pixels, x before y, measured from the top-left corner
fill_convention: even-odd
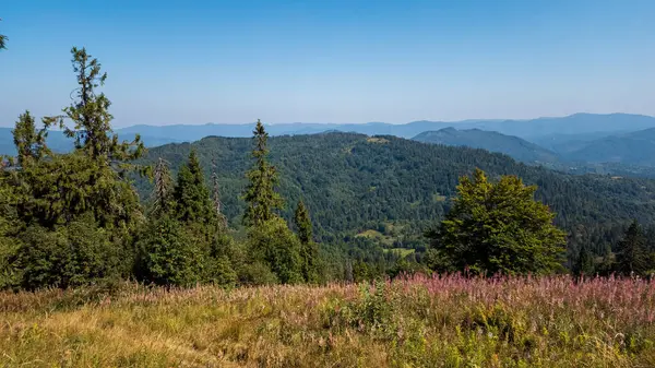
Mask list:
[[[130,161],[141,156],[144,146],[139,139],[119,143],[118,136],[112,135],[109,99],[97,93],[107,74],[100,72],[97,59],[84,48],[73,48],[71,52],[79,85],[73,102],[63,109],[63,116],[43,121],[44,131],[58,123],[74,138],[75,151],[51,155],[50,159],[22,170],[22,185],[31,193],[29,203],[21,204],[21,213],[51,227],[91,212],[99,226],[129,230],[142,214],[126,174],[132,169]],[[67,126],[69,120],[72,127]]]

